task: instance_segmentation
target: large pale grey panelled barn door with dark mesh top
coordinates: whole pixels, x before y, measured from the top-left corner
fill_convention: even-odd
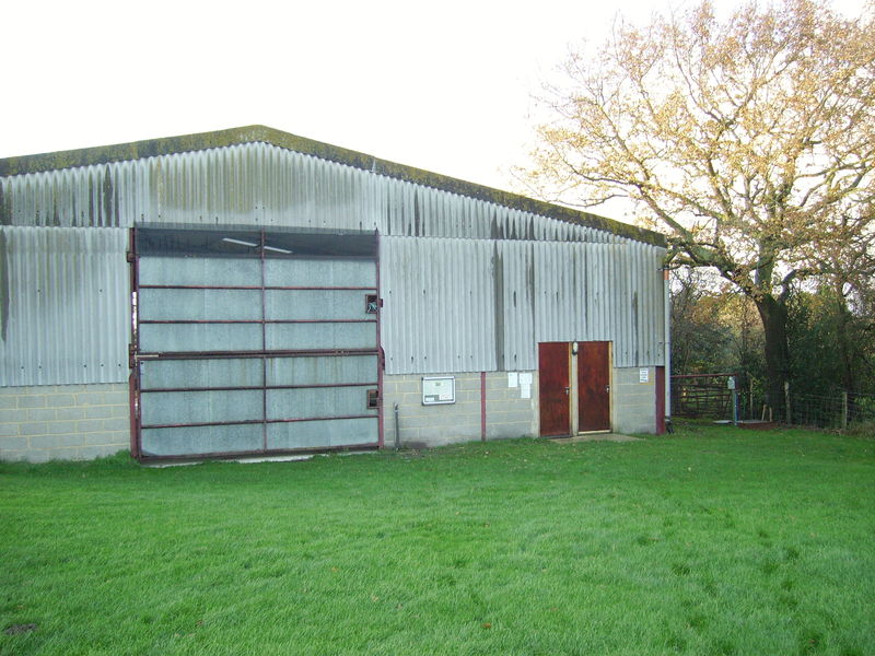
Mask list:
[[[378,446],[376,239],[133,229],[133,455]]]

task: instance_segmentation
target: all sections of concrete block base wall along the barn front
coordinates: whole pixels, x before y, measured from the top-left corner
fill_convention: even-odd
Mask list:
[[[612,429],[656,431],[655,367],[641,383],[640,368],[615,368]],[[394,403],[399,403],[401,443],[440,446],[480,440],[480,374],[455,375],[456,402],[422,405],[422,376],[385,376],[384,440],[395,444]],[[530,398],[510,387],[508,372],[486,375],[487,440],[538,434],[538,380]],[[0,388],[0,460],[83,460],[130,447],[126,384]]]

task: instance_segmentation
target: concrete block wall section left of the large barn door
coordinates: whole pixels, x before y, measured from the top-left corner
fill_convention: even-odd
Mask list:
[[[88,460],[130,448],[128,386],[0,387],[0,460]]]

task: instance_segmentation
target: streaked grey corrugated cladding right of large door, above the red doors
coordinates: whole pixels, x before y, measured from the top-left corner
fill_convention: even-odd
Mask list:
[[[663,249],[635,244],[381,239],[389,374],[537,368],[537,342],[614,341],[663,364]]]

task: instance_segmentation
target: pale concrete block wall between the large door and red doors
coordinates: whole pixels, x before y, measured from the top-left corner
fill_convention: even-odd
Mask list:
[[[395,444],[395,403],[398,403],[401,444],[441,446],[480,440],[480,374],[455,376],[456,402],[422,405],[422,376],[383,377],[383,437],[387,448]],[[537,382],[535,382],[537,383]],[[509,387],[506,372],[486,375],[487,440],[534,435],[537,431],[537,385],[532,398],[522,398],[520,387]]]

